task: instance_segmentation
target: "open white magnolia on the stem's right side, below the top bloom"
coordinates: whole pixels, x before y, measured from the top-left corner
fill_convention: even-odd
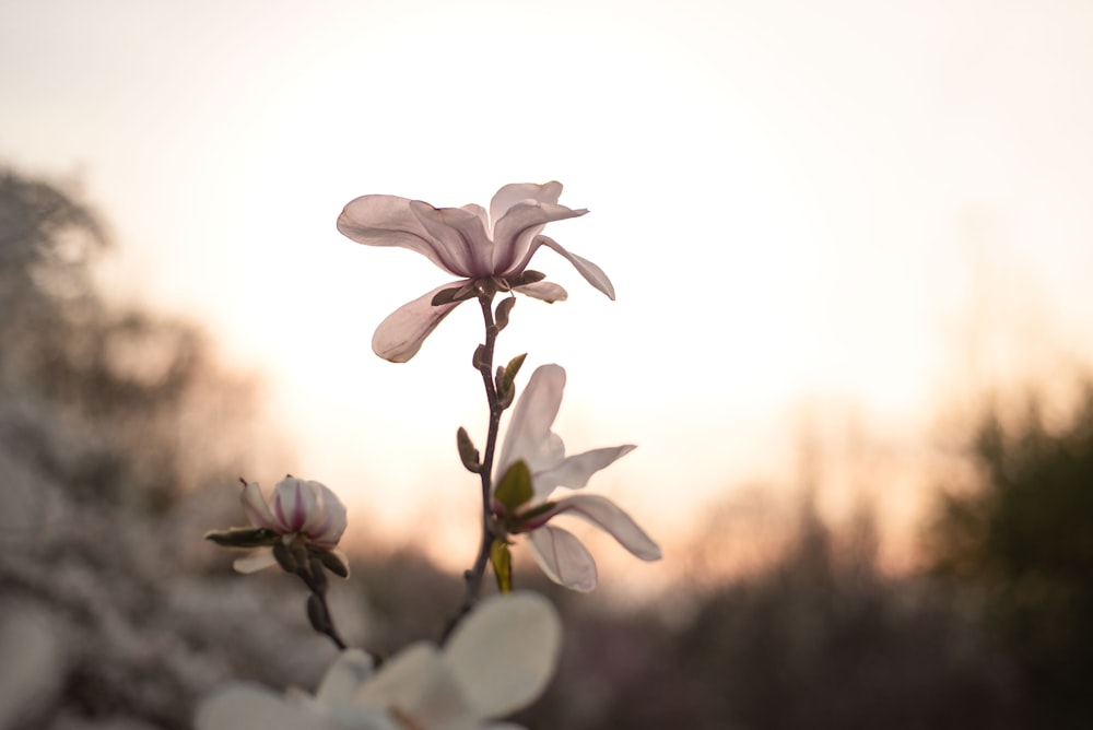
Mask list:
[[[562,404],[565,369],[543,365],[532,373],[516,402],[497,461],[494,517],[507,533],[526,533],[531,554],[548,577],[566,588],[596,588],[596,562],[572,533],[550,522],[572,514],[609,532],[643,561],[660,560],[660,548],[631,517],[606,497],[574,494],[550,499],[555,487],[584,487],[589,478],[634,450],[634,446],[593,449],[566,457],[551,431]]]

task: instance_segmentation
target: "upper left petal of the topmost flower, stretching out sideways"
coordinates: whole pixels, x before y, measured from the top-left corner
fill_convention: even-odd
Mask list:
[[[413,202],[421,203],[398,196],[362,196],[351,200],[342,210],[338,216],[338,231],[359,244],[408,248],[448,273],[462,275],[458,259],[413,213],[410,207]]]

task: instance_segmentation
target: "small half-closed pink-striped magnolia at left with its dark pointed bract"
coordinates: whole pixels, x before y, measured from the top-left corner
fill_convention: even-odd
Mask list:
[[[285,476],[275,487],[269,504],[255,482],[243,488],[243,510],[252,526],[214,530],[205,538],[228,548],[256,548],[235,561],[239,573],[254,573],[275,565],[273,546],[281,543],[289,552],[310,553],[341,576],[349,575],[345,554],[338,541],[345,531],[345,506],[333,492],[319,482]]]

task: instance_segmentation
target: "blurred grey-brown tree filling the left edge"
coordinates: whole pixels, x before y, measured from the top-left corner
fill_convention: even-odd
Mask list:
[[[225,600],[201,541],[238,518],[257,385],[193,326],[105,302],[107,247],[73,195],[0,169],[0,728],[185,728],[237,663],[283,676],[268,590]]]

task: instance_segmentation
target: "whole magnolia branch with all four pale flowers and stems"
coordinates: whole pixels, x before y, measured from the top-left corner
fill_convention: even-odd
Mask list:
[[[461,303],[477,299],[485,319],[485,342],[472,358],[482,373],[490,408],[484,457],[467,432],[458,432],[463,466],[479,475],[482,530],[478,557],[467,572],[467,596],[439,646],[414,644],[377,666],[376,658],[348,648],[326,602],[330,572],[349,576],[338,543],[346,510],[338,496],[315,481],[286,476],[267,501],[257,483],[244,482],[242,502],[249,527],[214,530],[218,544],[246,549],[235,562],[249,573],[280,566],[304,580],[312,594],[308,619],[341,649],[315,694],[273,693],[234,685],[199,708],[198,730],[473,730],[514,728],[490,723],[533,702],[553,674],[561,621],[542,597],[513,590],[510,546],[524,535],[536,563],[553,581],[587,592],[598,582],[588,549],[556,518],[584,519],[611,534],[643,561],[660,558],[657,543],[607,497],[581,492],[598,471],[630,454],[633,445],[567,456],[553,424],[566,384],[565,369],[539,366],[516,398],[525,356],[494,370],[497,335],[509,322],[519,292],[545,302],[567,297],[562,286],[529,269],[540,248],[565,258],[593,287],[614,298],[603,271],[542,235],[548,223],[587,213],[560,204],[562,186],[514,184],[501,188],[489,210],[480,205],[434,208],[396,196],[364,196],[338,219],[346,237],[369,246],[407,248],[456,281],[399,307],[376,329],[373,350],[391,362],[419,353],[428,334]],[[504,295],[494,305],[495,297]],[[512,409],[501,448],[503,412]],[[492,566],[500,594],[482,599],[482,577]]]

